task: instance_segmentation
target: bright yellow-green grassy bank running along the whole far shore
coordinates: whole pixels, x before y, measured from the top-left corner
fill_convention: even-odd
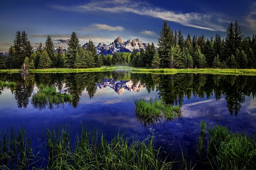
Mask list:
[[[102,68],[49,68],[49,69],[32,69],[30,73],[81,73],[81,72],[100,72],[114,71],[118,69],[131,70],[132,73],[152,73],[152,74],[177,74],[177,73],[198,73],[198,74],[232,74],[232,75],[256,75],[256,69],[148,69],[148,68],[132,68],[132,67],[102,67]],[[19,73],[19,69],[0,70],[0,73]]]

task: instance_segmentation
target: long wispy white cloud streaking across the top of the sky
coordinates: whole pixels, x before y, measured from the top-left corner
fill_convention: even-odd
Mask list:
[[[131,0],[112,0],[112,1],[91,1],[81,6],[52,6],[53,8],[67,11],[89,12],[105,11],[111,13],[131,12],[138,15],[145,15],[163,20],[172,21],[194,28],[206,29],[210,31],[226,31],[219,21],[212,14],[175,13],[163,8],[151,6],[142,1],[132,2]]]

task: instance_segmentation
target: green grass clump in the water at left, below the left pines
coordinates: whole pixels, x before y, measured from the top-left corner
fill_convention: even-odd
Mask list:
[[[70,94],[61,94],[56,91],[55,87],[39,85],[39,91],[32,95],[32,104],[35,108],[43,109],[49,105],[61,105],[64,102],[72,102],[73,96]]]

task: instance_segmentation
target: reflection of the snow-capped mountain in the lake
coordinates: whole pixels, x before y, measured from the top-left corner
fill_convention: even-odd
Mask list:
[[[106,87],[113,88],[113,90],[119,94],[122,95],[124,90],[128,91],[135,91],[139,92],[141,89],[145,88],[145,85],[141,84],[141,82],[138,82],[137,84],[133,84],[133,82],[130,81],[114,81],[113,78],[111,79],[104,79],[103,82],[99,82],[96,84],[100,89],[105,89]]]

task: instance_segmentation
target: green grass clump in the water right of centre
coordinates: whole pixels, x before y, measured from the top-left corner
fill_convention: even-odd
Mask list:
[[[144,124],[153,124],[158,119],[173,120],[181,117],[181,106],[168,105],[162,99],[135,99],[135,113]]]

